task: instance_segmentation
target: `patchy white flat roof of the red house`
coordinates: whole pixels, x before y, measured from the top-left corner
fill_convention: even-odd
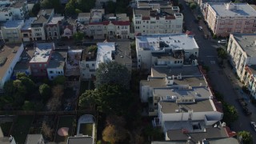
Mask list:
[[[37,43],[34,56],[31,58],[30,63],[47,62],[52,49],[53,43]]]

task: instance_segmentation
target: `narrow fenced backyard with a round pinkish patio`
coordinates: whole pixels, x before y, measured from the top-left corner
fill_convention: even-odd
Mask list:
[[[54,142],[66,142],[67,137],[73,132],[74,116],[61,116],[58,118],[58,126],[55,132]]]

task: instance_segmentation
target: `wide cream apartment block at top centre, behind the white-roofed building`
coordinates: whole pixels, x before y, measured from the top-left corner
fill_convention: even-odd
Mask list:
[[[172,8],[134,9],[134,34],[180,34],[183,15]]]

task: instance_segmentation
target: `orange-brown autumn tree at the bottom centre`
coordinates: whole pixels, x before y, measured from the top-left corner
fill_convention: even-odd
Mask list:
[[[112,144],[122,142],[127,138],[127,130],[121,126],[106,126],[102,132],[102,139]]]

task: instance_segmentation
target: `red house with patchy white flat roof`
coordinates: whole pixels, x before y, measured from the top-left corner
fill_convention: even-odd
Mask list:
[[[54,49],[54,43],[37,43],[33,57],[30,59],[31,74],[36,77],[47,76],[47,66]]]

